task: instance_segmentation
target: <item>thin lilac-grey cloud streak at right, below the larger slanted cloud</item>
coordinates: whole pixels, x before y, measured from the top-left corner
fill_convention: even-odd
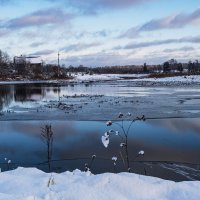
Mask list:
[[[173,43],[200,43],[200,36],[195,37],[183,37],[179,39],[167,39],[167,40],[153,40],[150,42],[138,42],[138,43],[131,43],[125,45],[124,47],[118,46],[114,49],[139,49],[144,47],[152,47],[152,46],[159,46],[164,44],[173,44]]]

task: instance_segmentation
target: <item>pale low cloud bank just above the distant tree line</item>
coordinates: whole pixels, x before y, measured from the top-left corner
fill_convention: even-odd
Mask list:
[[[138,51],[131,52],[98,52],[93,54],[77,55],[77,56],[64,56],[60,60],[61,63],[66,66],[77,67],[79,65],[84,65],[88,67],[103,67],[103,66],[125,66],[125,65],[143,65],[144,62],[148,64],[161,64],[171,58],[176,58],[179,62],[188,62],[189,59],[197,59],[199,52],[189,52],[182,51],[177,55],[172,55],[170,53],[165,53],[160,50],[150,50],[143,51],[142,53]],[[51,60],[51,63],[56,63],[57,60]],[[50,62],[50,61],[48,61]]]

